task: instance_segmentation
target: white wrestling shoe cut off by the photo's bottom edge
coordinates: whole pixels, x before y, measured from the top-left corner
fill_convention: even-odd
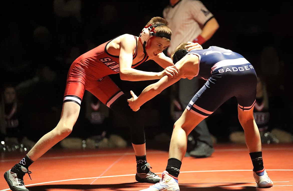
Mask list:
[[[147,189],[140,191],[180,191],[178,185],[178,178],[175,178],[164,171],[162,174],[162,179],[159,183],[150,186]]]

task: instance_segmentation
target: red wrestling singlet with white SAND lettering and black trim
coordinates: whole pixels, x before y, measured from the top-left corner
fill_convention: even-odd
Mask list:
[[[137,37],[133,59],[137,55]],[[82,54],[71,65],[64,92],[64,102],[74,101],[81,104],[84,91],[88,90],[105,105],[110,107],[119,96],[123,94],[120,88],[110,79],[108,75],[119,73],[119,56],[111,55],[106,47],[112,40]],[[145,62],[148,56],[132,64],[132,68]]]

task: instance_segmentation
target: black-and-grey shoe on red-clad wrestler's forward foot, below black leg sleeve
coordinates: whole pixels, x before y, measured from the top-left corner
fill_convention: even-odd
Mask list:
[[[149,163],[145,163],[141,167],[142,173],[136,173],[135,180],[139,183],[158,183],[161,178],[155,173],[151,172],[150,168],[151,166],[149,165]]]

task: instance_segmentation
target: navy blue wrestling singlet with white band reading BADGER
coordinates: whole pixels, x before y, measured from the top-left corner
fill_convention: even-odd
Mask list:
[[[237,98],[239,108],[251,110],[257,78],[253,66],[242,55],[217,46],[191,50],[188,54],[199,57],[196,77],[207,80],[188,104],[188,110],[208,117],[233,96]]]

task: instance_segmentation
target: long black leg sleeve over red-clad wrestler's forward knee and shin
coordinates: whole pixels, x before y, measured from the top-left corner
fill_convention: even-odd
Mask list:
[[[110,109],[127,122],[127,125],[130,127],[131,142],[137,145],[144,144],[144,117],[139,110],[137,112],[132,111],[128,105],[126,95],[123,94],[115,100],[111,104]]]

